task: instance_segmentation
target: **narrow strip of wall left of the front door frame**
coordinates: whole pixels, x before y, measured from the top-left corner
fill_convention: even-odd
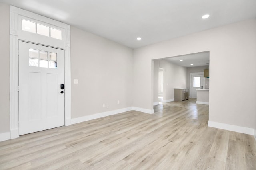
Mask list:
[[[0,3],[0,133],[10,131],[10,6]]]

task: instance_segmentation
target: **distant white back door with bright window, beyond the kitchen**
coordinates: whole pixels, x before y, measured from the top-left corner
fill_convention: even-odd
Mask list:
[[[190,98],[196,98],[196,89],[203,86],[204,73],[190,74]]]

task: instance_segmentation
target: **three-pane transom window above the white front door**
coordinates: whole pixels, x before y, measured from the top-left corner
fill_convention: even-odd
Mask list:
[[[62,31],[40,23],[22,19],[22,31],[62,40]]]

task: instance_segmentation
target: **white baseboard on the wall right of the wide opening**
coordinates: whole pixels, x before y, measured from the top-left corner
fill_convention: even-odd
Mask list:
[[[239,133],[245,133],[248,135],[254,135],[254,129],[248,128],[248,127],[242,127],[242,126],[236,126],[236,125],[229,125],[225,123],[219,123],[214,121],[208,121],[208,127],[215,127],[218,129],[224,129],[228,131],[234,131]]]

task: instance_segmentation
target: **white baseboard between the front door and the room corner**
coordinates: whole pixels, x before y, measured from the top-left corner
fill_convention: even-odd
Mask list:
[[[116,114],[123,113],[123,112],[126,112],[126,111],[131,111],[131,110],[132,110],[132,107],[127,107],[127,108],[124,108],[124,109],[117,109],[117,110],[97,113],[97,114],[94,114],[94,115],[77,117],[77,118],[71,119],[71,124],[76,124],[76,123],[80,123],[80,122],[84,122],[84,121],[88,121],[88,120],[92,120],[92,119],[98,119],[98,118],[106,117],[106,116],[110,116],[110,115],[116,115]]]

